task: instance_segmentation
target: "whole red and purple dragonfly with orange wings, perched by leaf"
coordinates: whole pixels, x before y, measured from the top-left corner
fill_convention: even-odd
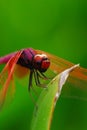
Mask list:
[[[0,74],[0,106],[3,105],[3,102],[6,99],[9,86],[14,86],[13,75],[15,71],[17,72],[16,75],[19,78],[22,78],[27,75],[29,72],[28,70],[30,70],[28,85],[28,88],[30,90],[33,77],[37,86],[45,87],[40,83],[40,78],[48,79],[44,75],[48,69],[57,74],[74,65],[73,63],[62,58],[32,48],[22,49],[0,57],[0,64],[6,64]],[[18,69],[16,69],[17,66]],[[86,86],[87,69],[81,67],[76,68],[75,71],[71,73],[68,81],[80,87],[83,85]]]

